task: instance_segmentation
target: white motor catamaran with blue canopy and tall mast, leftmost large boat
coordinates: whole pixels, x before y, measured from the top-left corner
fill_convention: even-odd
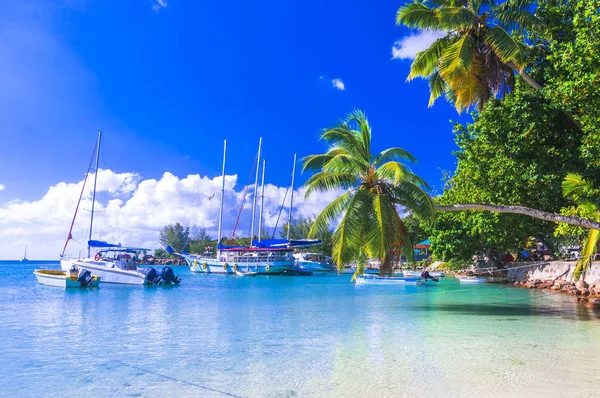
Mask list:
[[[98,132],[98,141],[92,153],[92,159],[88,166],[81,194],[77,201],[75,214],[71,221],[71,228],[67,240],[60,255],[60,265],[63,271],[70,271],[73,268],[89,271],[93,276],[100,277],[103,283],[121,283],[130,285],[164,285],[164,284],[179,284],[181,279],[175,275],[170,267],[164,267],[161,271],[157,271],[152,267],[140,268],[137,265],[137,256],[140,252],[146,251],[141,247],[124,247],[121,244],[114,244],[99,240],[92,240],[92,231],[94,226],[94,205],[96,202],[96,183],[98,179],[98,162],[100,158],[100,143],[102,142],[102,132]],[[65,250],[69,241],[73,239],[71,233],[73,225],[77,217],[77,211],[83,197],[85,184],[87,182],[90,170],[92,170],[92,162],[96,157],[96,168],[94,169],[94,190],[92,193],[92,210],[90,219],[90,232],[88,239],[88,253],[85,258],[71,259],[65,256]],[[94,256],[91,255],[91,250],[96,250]]]

